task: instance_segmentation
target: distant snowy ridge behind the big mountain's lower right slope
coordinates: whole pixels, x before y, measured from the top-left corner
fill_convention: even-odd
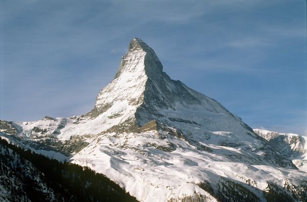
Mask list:
[[[262,138],[283,156],[292,160],[297,168],[307,172],[307,138],[294,133],[278,133],[269,130],[254,129]]]

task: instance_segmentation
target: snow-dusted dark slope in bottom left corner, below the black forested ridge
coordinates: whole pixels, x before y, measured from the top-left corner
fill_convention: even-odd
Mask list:
[[[0,170],[0,201],[31,201],[36,196],[45,197],[46,201],[61,199],[61,195],[47,185],[40,170],[2,142]]]

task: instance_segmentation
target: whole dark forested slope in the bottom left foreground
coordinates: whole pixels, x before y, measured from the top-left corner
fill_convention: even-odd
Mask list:
[[[0,138],[1,201],[137,201],[102,174]]]

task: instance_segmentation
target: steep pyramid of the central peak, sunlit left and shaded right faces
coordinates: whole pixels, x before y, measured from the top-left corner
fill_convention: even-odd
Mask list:
[[[152,120],[170,126],[182,122],[209,131],[246,131],[255,137],[251,128],[220,103],[170,79],[162,70],[156,53],[141,39],[134,38],[115,79],[99,92],[94,109],[87,115],[96,118],[112,107],[126,105],[133,109],[129,119],[138,126]],[[129,114],[126,108],[113,116]],[[188,116],[186,120],[184,116]]]

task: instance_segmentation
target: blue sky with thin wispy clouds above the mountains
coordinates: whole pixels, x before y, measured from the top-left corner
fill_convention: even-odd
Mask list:
[[[307,134],[305,1],[1,1],[0,119],[90,111],[133,37],[253,128]]]

